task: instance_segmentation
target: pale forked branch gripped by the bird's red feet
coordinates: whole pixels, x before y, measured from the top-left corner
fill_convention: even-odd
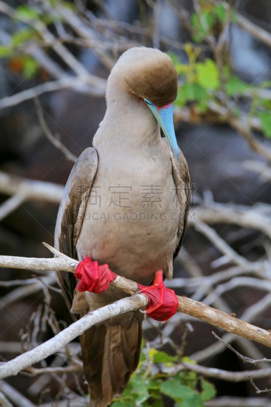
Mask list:
[[[53,247],[45,244],[45,246],[54,254],[54,258],[27,258],[15,256],[0,256],[0,267],[24,268],[29,270],[57,270],[68,271],[74,273],[78,265],[78,261],[58,252]],[[103,308],[99,308],[88,313],[79,321],[70,325],[55,337],[49,339],[42,345],[37,346],[34,350],[26,352],[18,356],[14,360],[7,362],[0,367],[0,377],[7,377],[11,374],[17,374],[21,369],[36,363],[49,355],[53,354],[65,344],[69,343],[78,335],[81,335],[86,329],[94,324],[101,323],[115,315],[128,312],[130,310],[143,308],[147,304],[147,299],[144,295],[138,293],[138,285],[136,282],[128,280],[124,277],[117,276],[115,281],[111,283],[118,289],[134,295],[132,298],[125,298],[113,304],[109,304]],[[271,334],[262,328],[255,327],[246,322],[240,321],[227,313],[215,308],[211,308],[198,301],[191,300],[186,297],[178,298],[178,310],[187,313],[196,318],[201,319],[218,328],[222,328],[227,332],[262,343],[271,347]]]

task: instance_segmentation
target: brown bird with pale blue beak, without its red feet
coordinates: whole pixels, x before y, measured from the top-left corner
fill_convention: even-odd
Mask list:
[[[66,184],[55,228],[58,250],[107,263],[145,285],[158,270],[172,277],[190,190],[173,127],[176,94],[177,74],[167,54],[135,47],[119,57],[93,148],[82,152]],[[59,273],[58,281],[71,312],[81,315],[127,296],[112,287],[80,293],[70,273]],[[142,318],[139,311],[127,312],[81,336],[91,406],[105,407],[124,390],[138,364]]]

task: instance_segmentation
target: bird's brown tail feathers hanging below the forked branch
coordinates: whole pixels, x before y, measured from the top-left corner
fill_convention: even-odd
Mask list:
[[[139,361],[142,313],[127,312],[80,337],[90,407],[107,407],[122,394]]]

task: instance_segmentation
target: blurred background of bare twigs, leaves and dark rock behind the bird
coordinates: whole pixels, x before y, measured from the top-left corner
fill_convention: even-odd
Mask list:
[[[53,245],[63,185],[103,119],[110,69],[132,46],[157,47],[179,75],[175,130],[192,183],[168,286],[271,329],[270,20],[264,0],[0,1],[0,254],[50,256],[42,242]],[[1,269],[0,280],[2,362],[71,323],[53,273]],[[145,355],[155,347],[178,355],[180,366],[188,356],[206,368],[217,394],[203,405],[271,405],[267,347],[189,315],[162,326],[146,320],[144,328]],[[244,365],[213,330],[261,361]],[[20,406],[86,405],[83,376],[69,370],[76,341],[70,352],[0,382],[0,405],[5,397]],[[48,366],[63,371],[37,371]],[[221,380],[213,367],[232,376]],[[253,383],[234,375],[264,368]],[[174,405],[167,397],[131,405]]]

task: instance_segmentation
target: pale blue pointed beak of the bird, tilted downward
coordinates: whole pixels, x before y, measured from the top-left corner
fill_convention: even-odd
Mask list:
[[[173,125],[173,103],[164,107],[156,107],[152,102],[144,99],[154,117],[160,124],[163,133],[169,141],[171,150],[174,153],[174,156],[179,161],[179,148],[175,136],[175,130]]]

